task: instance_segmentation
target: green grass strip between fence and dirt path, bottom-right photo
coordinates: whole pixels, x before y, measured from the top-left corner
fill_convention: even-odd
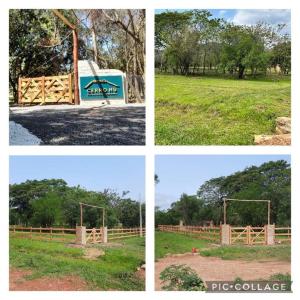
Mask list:
[[[178,233],[155,233],[155,257],[161,258],[168,253],[191,252],[198,248],[202,256],[214,256],[222,259],[241,260],[291,260],[290,245],[276,246],[221,246],[213,247],[204,240],[198,240]]]

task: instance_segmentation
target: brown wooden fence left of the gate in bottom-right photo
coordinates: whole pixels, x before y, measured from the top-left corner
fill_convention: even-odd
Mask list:
[[[158,225],[160,231],[176,232],[190,235],[194,238],[203,239],[211,242],[220,242],[221,230],[219,226],[174,226]]]

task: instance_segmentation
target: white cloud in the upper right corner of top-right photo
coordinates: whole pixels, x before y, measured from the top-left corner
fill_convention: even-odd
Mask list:
[[[286,24],[285,32],[290,33],[291,11],[289,9],[240,9],[232,18],[238,25],[253,25],[265,22],[270,25]]]

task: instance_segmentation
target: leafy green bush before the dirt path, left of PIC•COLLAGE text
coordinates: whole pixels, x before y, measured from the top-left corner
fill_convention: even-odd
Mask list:
[[[197,273],[186,265],[170,265],[160,273],[163,290],[204,291],[205,285]]]

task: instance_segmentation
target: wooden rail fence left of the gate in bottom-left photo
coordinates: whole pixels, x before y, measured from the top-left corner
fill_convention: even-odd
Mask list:
[[[70,243],[74,243],[76,240],[76,229],[73,228],[10,226],[9,232],[14,237],[32,240]]]

